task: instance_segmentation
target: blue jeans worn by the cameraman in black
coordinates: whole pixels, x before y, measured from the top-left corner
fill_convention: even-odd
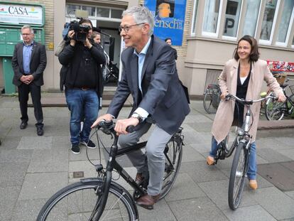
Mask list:
[[[67,107],[70,109],[70,142],[79,144],[89,141],[91,126],[97,119],[99,100],[95,90],[65,90]],[[84,126],[81,129],[81,117],[85,114]]]

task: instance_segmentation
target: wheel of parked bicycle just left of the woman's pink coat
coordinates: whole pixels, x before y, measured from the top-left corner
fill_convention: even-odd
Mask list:
[[[215,89],[207,89],[203,99],[203,107],[208,114],[215,114],[219,106],[219,93]]]

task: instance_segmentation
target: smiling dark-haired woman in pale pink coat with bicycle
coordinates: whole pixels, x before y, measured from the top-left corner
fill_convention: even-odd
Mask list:
[[[244,106],[235,105],[233,100],[225,101],[226,95],[232,94],[244,99],[258,99],[261,93],[263,80],[268,87],[276,93],[278,102],[285,101],[283,90],[273,77],[265,60],[260,60],[256,39],[251,36],[242,37],[234,53],[234,59],[227,61],[224,70],[219,76],[219,86],[222,90],[222,102],[212,124],[212,149],[207,156],[207,164],[214,164],[218,144],[229,134],[231,126],[242,126],[244,119]],[[260,112],[260,104],[251,105],[254,122],[249,133],[252,135],[251,154],[247,176],[252,189],[257,188],[256,183],[256,130]]]

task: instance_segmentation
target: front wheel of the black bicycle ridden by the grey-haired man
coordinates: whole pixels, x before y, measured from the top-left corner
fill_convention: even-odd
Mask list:
[[[109,189],[102,216],[97,217],[97,210],[93,210],[99,202],[97,192],[101,185],[101,180],[67,185],[45,203],[37,220],[138,220],[131,198],[115,185]]]

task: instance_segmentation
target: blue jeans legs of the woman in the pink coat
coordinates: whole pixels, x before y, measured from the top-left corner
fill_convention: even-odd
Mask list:
[[[214,136],[212,136],[212,149],[209,152],[209,156],[217,156],[217,149],[219,149],[219,146],[217,145],[217,141],[214,139]],[[247,172],[249,180],[256,180],[256,171],[256,144],[253,142],[250,147],[249,168]]]

